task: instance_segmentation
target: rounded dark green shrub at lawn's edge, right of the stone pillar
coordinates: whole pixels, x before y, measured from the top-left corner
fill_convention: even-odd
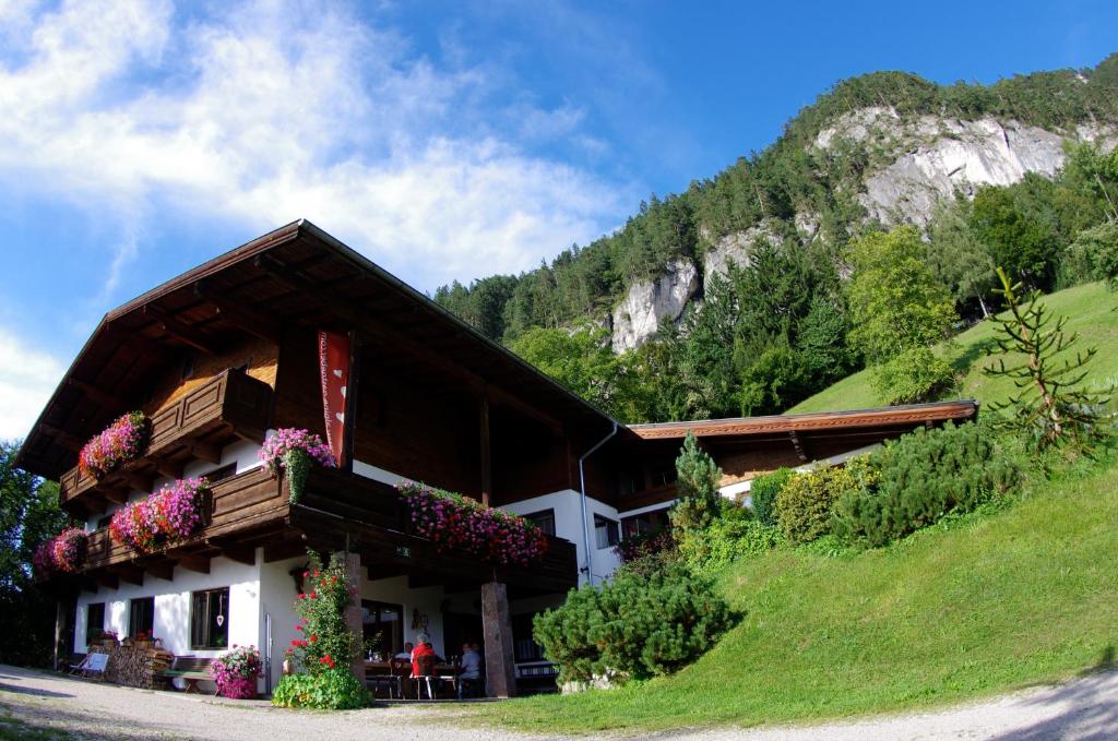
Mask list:
[[[584,586],[536,616],[536,640],[560,682],[616,682],[669,674],[689,664],[731,624],[710,579],[666,563],[650,573],[622,568],[613,581]]]

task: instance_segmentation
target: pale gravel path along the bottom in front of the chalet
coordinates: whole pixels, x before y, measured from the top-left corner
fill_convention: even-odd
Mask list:
[[[453,722],[454,711],[448,707],[457,706],[392,704],[339,713],[300,712],[273,709],[265,702],[148,692],[0,665],[0,715],[25,723],[26,726],[17,726],[20,730],[67,731],[75,739],[487,741],[532,738],[495,730],[453,728],[448,722]],[[4,725],[0,718],[0,732]],[[1093,674],[1054,687],[1027,690],[935,712],[804,726],[683,731],[654,738],[673,741],[1118,739],[1118,672]]]

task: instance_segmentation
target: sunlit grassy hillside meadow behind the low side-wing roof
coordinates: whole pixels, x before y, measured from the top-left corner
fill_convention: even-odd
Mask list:
[[[1101,283],[1091,283],[1051,294],[1043,301],[1053,312],[1068,316],[1067,330],[1079,332],[1082,338],[1079,349],[1099,349],[1092,361],[1091,378],[1098,379],[1099,386],[1118,379],[1118,312],[1115,311],[1118,293],[1107,291]],[[949,352],[957,355],[956,367],[961,380],[959,388],[948,396],[975,398],[988,403],[1004,400],[1014,390],[1008,379],[987,377],[982,372],[986,350],[995,348],[994,330],[992,322],[983,322],[955,339],[957,346]],[[882,403],[884,401],[870,384],[869,371],[861,371],[819,391],[788,412],[860,409]]]

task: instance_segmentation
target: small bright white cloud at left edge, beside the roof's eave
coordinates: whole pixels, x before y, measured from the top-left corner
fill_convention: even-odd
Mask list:
[[[0,327],[0,440],[30,431],[63,370],[55,358]]]

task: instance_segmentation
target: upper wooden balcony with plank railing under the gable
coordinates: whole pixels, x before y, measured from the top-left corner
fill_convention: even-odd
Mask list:
[[[182,464],[198,457],[218,462],[221,447],[237,438],[260,443],[267,428],[272,387],[239,370],[226,370],[193,389],[151,419],[144,454],[102,478],[78,467],[59,481],[63,506],[80,503],[103,511],[104,500],[123,502],[134,488],[146,491],[160,475],[181,475]]]

